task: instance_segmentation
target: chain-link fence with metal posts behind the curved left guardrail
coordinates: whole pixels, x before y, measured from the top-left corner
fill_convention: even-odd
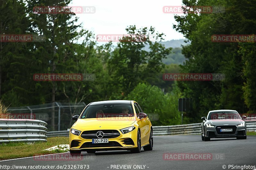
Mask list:
[[[80,115],[86,104],[79,103],[48,103],[34,106],[9,107],[12,119],[37,119],[47,122],[48,131],[67,130],[75,121],[73,115]]]

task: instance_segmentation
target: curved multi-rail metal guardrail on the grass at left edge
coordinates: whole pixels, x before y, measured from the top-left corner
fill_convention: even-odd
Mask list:
[[[33,119],[0,119],[0,143],[46,142],[46,125]]]

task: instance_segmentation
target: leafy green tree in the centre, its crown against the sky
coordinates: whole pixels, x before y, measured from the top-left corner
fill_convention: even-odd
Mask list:
[[[131,36],[123,37],[108,60],[112,84],[124,94],[128,94],[139,82],[157,79],[164,68],[162,59],[171,53],[171,48],[166,49],[164,45],[150,41],[151,35],[160,41],[164,36],[163,33],[156,33],[153,27],[137,29],[136,26],[129,26],[126,31]],[[132,37],[136,37],[135,41]],[[143,50],[147,44],[149,51]]]

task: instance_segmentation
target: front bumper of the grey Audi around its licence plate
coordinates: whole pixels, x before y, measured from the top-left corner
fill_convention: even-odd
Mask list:
[[[246,125],[244,127],[237,126],[215,126],[214,128],[205,129],[205,137],[210,138],[227,138],[227,137],[244,137],[246,136]],[[232,132],[220,132],[220,129],[233,129]]]

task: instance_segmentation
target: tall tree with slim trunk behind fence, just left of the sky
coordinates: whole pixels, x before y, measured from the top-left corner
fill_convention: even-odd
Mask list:
[[[28,1],[29,18],[31,21],[31,32],[44,35],[46,41],[36,43],[33,50],[36,72],[39,73],[73,73],[75,68],[75,46],[79,37],[85,35],[85,30],[81,28],[81,24],[76,24],[78,18],[73,12],[56,11],[54,13],[40,14],[34,12],[36,6],[57,6],[67,7],[70,0],[43,0]],[[60,9],[61,10],[61,9]],[[74,57],[74,58],[73,58]],[[44,93],[44,99],[47,102],[54,103],[56,100],[63,99],[63,82],[37,82],[37,90],[40,88],[48,89],[48,93]],[[49,90],[51,88],[51,90]],[[63,96],[63,97],[62,97]],[[62,97],[62,98],[61,98]],[[54,104],[52,104],[54,105]],[[52,109],[52,130],[55,127],[54,108]]]

